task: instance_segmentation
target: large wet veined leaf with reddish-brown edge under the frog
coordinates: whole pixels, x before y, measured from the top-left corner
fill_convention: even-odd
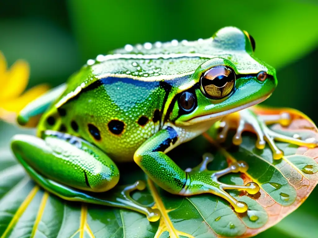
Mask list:
[[[262,110],[258,109],[258,113]],[[317,138],[317,129],[310,119],[293,113],[296,116],[290,126],[273,125],[272,129]],[[224,169],[236,160],[247,162],[246,173],[220,178],[228,184],[254,181],[260,185],[261,190],[255,195],[230,192],[248,204],[249,210],[244,214],[234,212],[228,202],[216,195],[171,195],[149,180],[134,163],[120,167],[121,183],[146,180],[147,189],[132,196],[142,204],[155,202],[154,206],[162,213],[159,221],[149,222],[144,215],[126,209],[67,202],[32,182],[7,148],[0,154],[0,237],[250,237],[298,208],[318,182],[317,148],[280,142],[277,145],[285,156],[276,161],[268,146],[264,150],[255,149],[256,138],[252,134],[244,134],[239,147],[232,145],[231,136],[221,145],[214,140],[215,136],[216,131],[210,130],[169,155],[183,169],[195,167],[204,152],[215,157],[208,166],[211,170]],[[289,234],[284,230],[287,222],[288,219],[284,220],[276,230]],[[298,223],[293,224],[294,237],[300,237],[296,232]]]

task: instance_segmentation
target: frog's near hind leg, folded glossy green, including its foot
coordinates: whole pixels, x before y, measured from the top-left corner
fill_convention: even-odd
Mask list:
[[[56,131],[45,131],[42,137],[16,135],[11,142],[18,161],[41,187],[65,200],[128,208],[147,215],[149,221],[160,218],[157,209],[130,197],[133,190],[144,189],[145,182],[113,188],[119,170],[100,149]],[[111,192],[102,193],[111,188]]]

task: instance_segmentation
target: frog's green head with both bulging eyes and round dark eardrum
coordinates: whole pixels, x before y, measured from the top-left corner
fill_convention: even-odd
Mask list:
[[[275,69],[253,56],[246,31],[226,27],[211,38],[211,57],[177,92],[170,119],[187,126],[221,118],[268,98],[277,85]]]

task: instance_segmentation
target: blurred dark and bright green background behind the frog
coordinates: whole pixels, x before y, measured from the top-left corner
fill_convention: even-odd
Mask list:
[[[244,2],[244,3],[243,3]],[[277,69],[265,105],[292,107],[318,124],[318,3],[315,0],[0,0],[0,50],[9,65],[31,65],[29,87],[56,86],[87,59],[125,44],[196,40],[221,27],[247,30],[256,56]],[[0,145],[13,129],[0,122]],[[257,237],[316,237],[318,188],[301,207]]]

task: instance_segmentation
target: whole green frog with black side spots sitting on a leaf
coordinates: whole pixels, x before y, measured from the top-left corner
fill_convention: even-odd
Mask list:
[[[134,161],[169,193],[211,193],[243,213],[247,204],[226,190],[256,194],[259,185],[228,185],[218,178],[246,172],[245,162],[210,171],[206,164],[211,155],[204,154],[199,166],[183,170],[167,152],[234,113],[239,113],[234,144],[242,142],[242,131],[248,125],[258,137],[256,147],[264,149],[268,142],[274,159],[283,154],[273,140],[317,145],[267,127],[267,122],[288,123],[288,114],[261,118],[247,109],[268,98],[277,85],[275,69],[254,57],[254,50],[255,41],[246,31],[225,27],[208,39],[128,44],[98,55],[66,84],[20,112],[20,125],[39,118],[37,136],[16,135],[11,148],[40,186],[66,200],[128,208],[157,221],[157,208],[139,204],[130,196],[131,191],[146,187],[143,181],[122,187],[115,199],[107,200],[107,194],[118,186],[117,165]],[[230,123],[223,122],[220,140],[226,137]]]

